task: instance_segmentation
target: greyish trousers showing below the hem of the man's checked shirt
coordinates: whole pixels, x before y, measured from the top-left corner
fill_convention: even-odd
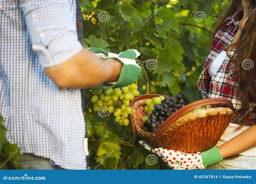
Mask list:
[[[63,169],[57,165],[55,165],[49,159],[43,157],[37,157],[33,154],[23,154],[21,155],[21,161],[19,165],[23,167],[23,169],[27,170],[58,170]]]

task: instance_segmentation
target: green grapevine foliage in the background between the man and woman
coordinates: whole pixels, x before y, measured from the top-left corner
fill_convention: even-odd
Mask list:
[[[84,17],[84,45],[120,53],[138,49],[143,74],[140,94],[177,94],[186,103],[201,98],[197,79],[213,38],[214,25],[228,1],[204,0],[80,0]],[[153,62],[148,62],[153,61]],[[131,126],[119,126],[113,115],[101,118],[92,111],[85,91],[85,117],[92,169],[165,169],[138,145]]]

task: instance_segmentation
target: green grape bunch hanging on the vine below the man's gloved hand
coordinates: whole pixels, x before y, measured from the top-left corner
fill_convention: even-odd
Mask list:
[[[93,110],[98,111],[100,117],[114,114],[114,121],[118,125],[129,125],[129,115],[132,108],[129,106],[134,97],[139,96],[138,87],[135,83],[122,88],[108,88],[92,90],[91,102]]]

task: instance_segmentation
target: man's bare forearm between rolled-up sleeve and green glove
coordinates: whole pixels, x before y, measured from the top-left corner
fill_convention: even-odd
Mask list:
[[[88,88],[106,81],[117,81],[121,69],[119,61],[102,61],[82,49],[68,61],[61,63],[58,69],[46,67],[45,72],[59,87]]]

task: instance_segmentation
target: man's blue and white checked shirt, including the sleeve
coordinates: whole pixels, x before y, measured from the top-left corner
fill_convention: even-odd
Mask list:
[[[60,89],[44,68],[61,67],[82,45],[75,0],[0,0],[0,112],[22,153],[86,169],[80,90]]]

